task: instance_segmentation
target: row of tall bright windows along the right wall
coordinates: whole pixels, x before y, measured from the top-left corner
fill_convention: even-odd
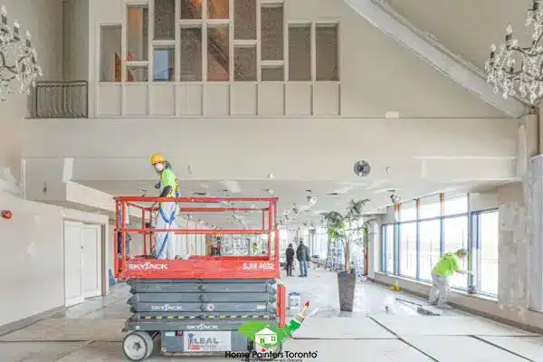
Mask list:
[[[469,214],[467,194],[429,195],[395,207],[395,221],[383,225],[383,271],[432,281],[433,266],[443,253],[465,249],[460,269],[474,273],[453,274],[452,288],[472,286],[482,294],[498,294],[497,210]]]

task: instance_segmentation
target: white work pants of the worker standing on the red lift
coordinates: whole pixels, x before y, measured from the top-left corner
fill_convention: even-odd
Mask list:
[[[176,229],[176,203],[160,203],[156,229]],[[155,233],[155,255],[157,259],[176,259],[176,233]]]

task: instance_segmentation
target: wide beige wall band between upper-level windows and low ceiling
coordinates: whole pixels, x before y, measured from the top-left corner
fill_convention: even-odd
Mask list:
[[[348,181],[364,158],[376,178],[496,180],[514,175],[517,130],[510,119],[39,119],[25,123],[24,157],[75,157],[75,181],[154,179],[142,165],[155,152],[184,179]],[[423,180],[420,157],[431,157]]]

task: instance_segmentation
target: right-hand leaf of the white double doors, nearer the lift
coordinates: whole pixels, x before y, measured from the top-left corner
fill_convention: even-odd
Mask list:
[[[83,225],[83,297],[101,295],[101,226]]]

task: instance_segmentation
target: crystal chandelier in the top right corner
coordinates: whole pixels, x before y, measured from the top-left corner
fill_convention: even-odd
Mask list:
[[[543,36],[543,0],[533,0],[526,26],[533,28],[531,44],[519,46],[519,41],[513,39],[513,28],[508,25],[505,43],[499,48],[491,45],[485,69],[494,92],[501,91],[505,99],[519,92],[521,98],[535,105],[543,96],[543,46],[539,43]]]

